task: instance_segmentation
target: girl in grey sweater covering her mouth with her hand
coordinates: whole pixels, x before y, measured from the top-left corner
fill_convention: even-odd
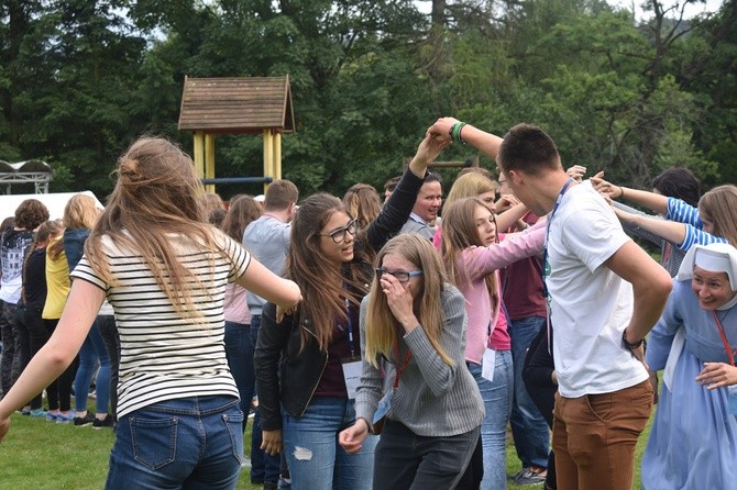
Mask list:
[[[371,294],[361,304],[358,420],[341,433],[341,445],[360,452],[371,444],[369,434],[381,431],[374,489],[453,489],[484,415],[463,363],[463,296],[448,283],[440,257],[419,235],[393,238],[376,264]],[[385,396],[384,359],[394,366]]]

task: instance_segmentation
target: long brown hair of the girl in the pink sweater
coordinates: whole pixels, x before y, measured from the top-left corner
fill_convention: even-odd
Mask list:
[[[484,201],[479,198],[463,198],[452,202],[443,212],[440,253],[451,282],[459,288],[471,285],[469,270],[461,270],[458,266],[461,254],[472,246],[485,246],[479,238],[476,223],[473,219],[473,213],[479,207],[488,210]],[[492,309],[496,310],[499,302],[496,272],[486,275],[484,281],[492,300]]]

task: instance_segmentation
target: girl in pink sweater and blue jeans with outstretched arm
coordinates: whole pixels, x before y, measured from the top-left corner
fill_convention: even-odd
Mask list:
[[[506,488],[506,426],[514,370],[498,270],[540,254],[546,230],[542,223],[536,224],[499,243],[494,213],[477,198],[452,202],[443,216],[442,259],[450,282],[465,298],[469,316],[464,360],[486,409],[481,426],[481,457],[473,460],[464,476],[464,482],[469,478],[473,485],[463,488],[479,488],[482,474],[482,489]]]

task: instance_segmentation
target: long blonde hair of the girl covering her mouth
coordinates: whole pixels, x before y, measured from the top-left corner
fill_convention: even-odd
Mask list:
[[[389,240],[376,256],[376,266],[382,267],[384,257],[397,254],[422,271],[422,287],[415,298],[414,312],[425,335],[438,352],[443,363],[453,365],[446,349],[440,344],[440,336],[446,325],[446,312],[442,309],[442,291],[446,281],[446,269],[432,244],[416,234],[403,234]],[[392,313],[382,290],[380,277],[375,277],[371,286],[371,297],[366,310],[366,359],[378,367],[378,357],[389,358],[398,342],[402,325]]]

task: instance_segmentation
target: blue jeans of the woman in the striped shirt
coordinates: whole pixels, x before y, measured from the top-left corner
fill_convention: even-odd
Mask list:
[[[234,489],[242,461],[238,399],[167,400],[120,417],[106,489]]]

